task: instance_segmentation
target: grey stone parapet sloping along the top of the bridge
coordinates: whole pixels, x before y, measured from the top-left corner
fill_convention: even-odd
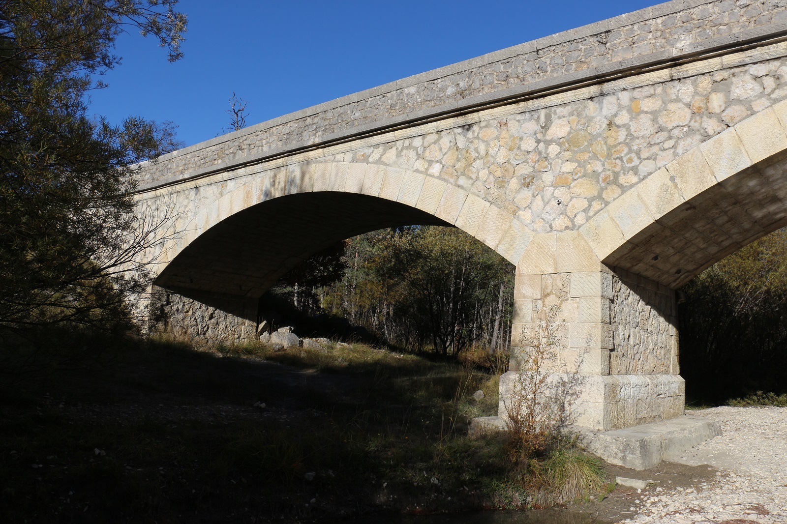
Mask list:
[[[719,17],[715,17],[702,22],[696,21],[692,28],[687,29],[689,32],[682,34],[681,31],[679,38],[678,35],[670,39],[665,37],[670,42],[667,42],[663,49],[634,53],[630,57],[619,59],[608,57],[604,63],[595,65],[590,61],[588,67],[574,68],[571,71],[563,69],[567,59],[569,65],[589,61],[582,54],[574,59],[562,56],[573,53],[567,50],[572,46],[583,46],[592,50],[595,46],[587,44],[585,39],[598,36],[604,45],[615,46],[619,44],[619,40],[628,38],[622,33],[625,28],[634,28],[635,24],[646,23],[648,20],[678,15],[690,9],[718,3],[717,0],[671,0],[279,116],[167,153],[155,162],[142,162],[139,166],[145,168],[149,176],[142,177],[138,191],[153,190],[248,164],[286,157],[296,152],[427,124],[449,116],[474,113],[482,108],[508,105],[552,92],[620,79],[645,70],[655,71],[670,65],[687,64],[717,53],[728,53],[730,49],[748,49],[748,46],[760,46],[764,45],[764,42],[779,41],[785,37],[787,22],[780,17],[770,23],[770,17],[767,20],[763,17],[763,24],[752,23],[752,27],[741,31],[701,38],[708,33],[709,27],[723,24],[717,20]],[[747,7],[748,2],[734,9],[742,11]],[[612,40],[608,41],[610,38]],[[554,71],[547,70],[533,78],[523,74],[521,78],[517,76],[509,79],[510,82],[499,81],[489,86],[481,85],[482,77],[497,75],[498,68],[503,65],[508,67],[509,62],[517,60],[538,60],[546,50],[560,53],[560,63],[563,66],[556,67]],[[468,82],[471,86],[474,82],[478,83],[478,86],[469,89],[461,87]],[[447,86],[458,87],[454,91],[455,96],[445,94]],[[467,94],[456,95],[464,91],[467,91]],[[392,105],[397,107],[392,109]],[[268,139],[270,143],[263,145],[262,142]],[[253,146],[258,140],[260,146]],[[178,157],[192,154],[199,157],[200,153],[205,153],[207,149],[210,149],[211,153],[206,153],[201,160],[195,160],[196,165],[185,162],[185,165],[176,163],[172,164],[174,167],[168,167],[169,163]]]

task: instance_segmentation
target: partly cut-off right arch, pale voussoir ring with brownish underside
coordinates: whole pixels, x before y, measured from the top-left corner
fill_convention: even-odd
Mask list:
[[[649,175],[580,231],[604,264],[673,289],[787,225],[787,101]]]

